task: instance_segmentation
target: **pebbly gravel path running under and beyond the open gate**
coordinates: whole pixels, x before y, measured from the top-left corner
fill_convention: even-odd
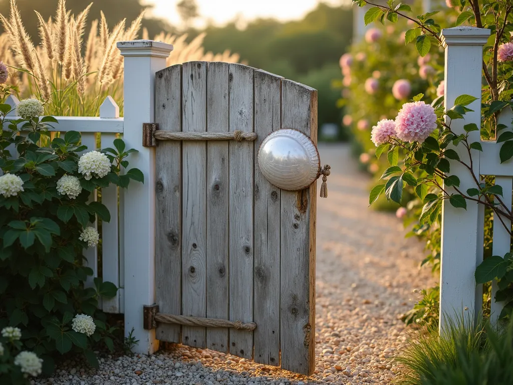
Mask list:
[[[400,315],[412,291],[434,283],[419,271],[422,245],[401,222],[367,208],[369,179],[347,145],[320,146],[331,165],[328,199],[318,199],[316,369],[310,377],[231,355],[172,345],[163,354],[102,358],[100,370],[67,361],[36,384],[387,384],[407,332]],[[34,382],[33,382],[34,383]]]

